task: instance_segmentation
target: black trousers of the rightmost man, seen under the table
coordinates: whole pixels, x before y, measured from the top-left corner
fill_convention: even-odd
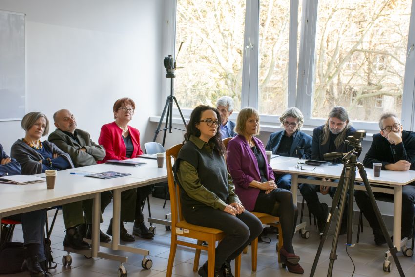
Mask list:
[[[373,192],[376,199],[394,202],[394,195],[381,192]],[[360,211],[365,215],[366,219],[369,221],[370,226],[373,229],[373,234],[375,232],[380,232],[379,222],[377,221],[376,215],[374,214],[372,204],[369,200],[368,193],[366,191],[354,191],[354,199],[356,204],[359,207]],[[415,216],[415,184],[411,183],[402,188],[402,237],[410,238],[412,235],[412,227],[414,224]]]

